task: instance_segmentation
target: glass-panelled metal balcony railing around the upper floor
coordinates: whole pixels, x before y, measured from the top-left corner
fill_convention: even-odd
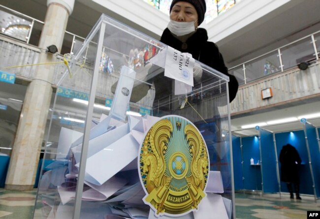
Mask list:
[[[17,31],[17,34],[14,35],[14,31],[6,31],[9,23],[5,25],[2,22],[2,34],[37,46],[41,29],[44,24],[42,21],[14,11],[3,5],[0,5],[0,13],[11,15],[12,21],[8,22],[11,22],[11,26],[13,27],[12,30],[17,30],[19,28],[19,26],[14,25],[14,22],[17,23],[17,20],[19,20],[19,22],[24,21],[23,28],[29,26],[28,31]],[[81,36],[65,31],[62,51],[59,52],[61,54],[76,54],[81,48],[84,40],[85,38]],[[270,74],[283,72],[289,68],[296,67],[300,63],[312,63],[313,61],[317,61],[319,60],[319,54],[320,31],[317,31],[245,63],[231,67],[229,68],[229,73],[238,79],[240,85],[247,84]]]

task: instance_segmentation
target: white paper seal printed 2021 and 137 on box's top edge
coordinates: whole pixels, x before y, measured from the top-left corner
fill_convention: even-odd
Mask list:
[[[189,53],[182,53],[168,46],[165,57],[164,76],[181,81],[193,87],[194,59]]]

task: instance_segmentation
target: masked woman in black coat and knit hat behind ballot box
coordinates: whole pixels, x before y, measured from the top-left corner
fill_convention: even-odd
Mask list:
[[[170,6],[170,22],[163,31],[160,41],[183,53],[192,54],[192,58],[204,63],[229,76],[229,101],[238,91],[238,82],[233,75],[228,74],[224,59],[218,46],[208,41],[205,29],[198,28],[204,20],[206,11],[205,0],[173,0]],[[194,79],[204,82],[208,75],[193,73]],[[154,83],[155,103],[163,96],[172,94],[172,79],[164,77],[164,73],[156,75],[150,82]],[[155,104],[154,104],[155,105]],[[156,104],[157,105],[157,104]]]

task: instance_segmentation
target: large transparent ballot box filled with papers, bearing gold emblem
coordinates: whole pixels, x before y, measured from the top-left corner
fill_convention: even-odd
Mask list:
[[[228,80],[102,15],[57,84],[33,218],[235,218]]]

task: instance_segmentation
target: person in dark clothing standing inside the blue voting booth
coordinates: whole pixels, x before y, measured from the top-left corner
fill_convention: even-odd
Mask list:
[[[296,199],[301,200],[299,195],[299,165],[301,158],[297,150],[290,144],[282,147],[279,161],[281,163],[281,181],[287,183],[290,198],[294,198],[292,184],[296,194]]]

